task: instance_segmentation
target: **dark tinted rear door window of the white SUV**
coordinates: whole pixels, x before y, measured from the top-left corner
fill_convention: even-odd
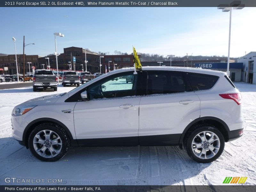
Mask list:
[[[182,73],[169,71],[148,72],[148,95],[185,92],[186,86]]]

